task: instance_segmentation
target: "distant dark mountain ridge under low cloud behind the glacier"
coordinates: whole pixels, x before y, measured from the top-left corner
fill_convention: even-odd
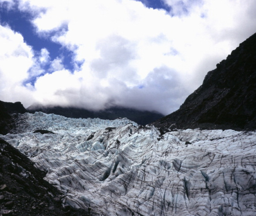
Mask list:
[[[47,114],[53,113],[56,115],[62,115],[67,118],[99,118],[114,120],[117,118],[127,118],[137,122],[141,125],[149,124],[157,119],[163,117],[163,114],[158,112],[140,111],[135,109],[129,109],[124,107],[111,107],[101,111],[90,111],[75,107],[43,107],[39,105],[32,105],[27,108],[30,113],[44,112]]]

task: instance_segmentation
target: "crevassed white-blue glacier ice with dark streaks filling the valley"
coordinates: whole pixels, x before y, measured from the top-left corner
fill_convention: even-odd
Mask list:
[[[63,205],[98,216],[256,215],[256,131],[161,135],[128,119],[16,118],[0,138],[47,171]]]

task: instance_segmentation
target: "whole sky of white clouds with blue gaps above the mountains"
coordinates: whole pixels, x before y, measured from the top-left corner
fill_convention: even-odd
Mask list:
[[[0,0],[0,100],[169,114],[256,31],[254,0]]]

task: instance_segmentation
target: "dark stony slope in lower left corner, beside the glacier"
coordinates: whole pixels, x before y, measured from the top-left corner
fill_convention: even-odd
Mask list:
[[[86,216],[85,210],[62,207],[64,195],[43,180],[46,173],[0,139],[0,215]]]

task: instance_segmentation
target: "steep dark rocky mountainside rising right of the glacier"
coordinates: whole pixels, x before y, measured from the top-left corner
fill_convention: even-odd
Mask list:
[[[256,129],[256,34],[209,71],[181,107],[153,124],[174,128]]]

